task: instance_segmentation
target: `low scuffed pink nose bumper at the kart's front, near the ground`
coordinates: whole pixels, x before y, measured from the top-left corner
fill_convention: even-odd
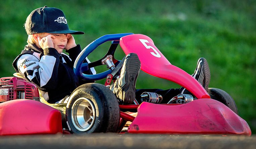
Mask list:
[[[245,120],[223,103],[198,99],[181,105],[143,102],[129,133],[150,134],[243,134],[251,136]]]

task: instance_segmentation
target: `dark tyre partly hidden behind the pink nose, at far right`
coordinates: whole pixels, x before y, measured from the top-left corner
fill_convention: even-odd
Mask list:
[[[208,88],[208,93],[211,99],[225,104],[238,115],[238,109],[235,100],[227,92],[218,88]]]

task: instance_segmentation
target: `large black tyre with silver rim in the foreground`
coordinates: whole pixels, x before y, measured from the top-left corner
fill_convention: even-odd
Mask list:
[[[66,120],[70,132],[77,135],[117,132],[119,113],[117,98],[108,87],[88,83],[71,93],[66,107]]]

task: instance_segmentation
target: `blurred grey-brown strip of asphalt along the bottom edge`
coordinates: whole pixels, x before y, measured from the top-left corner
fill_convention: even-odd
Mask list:
[[[30,135],[0,136],[0,149],[256,149],[256,136]]]

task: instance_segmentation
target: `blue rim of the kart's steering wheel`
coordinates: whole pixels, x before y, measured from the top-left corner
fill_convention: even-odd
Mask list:
[[[133,33],[118,33],[118,34],[107,34],[104,36],[101,36],[100,38],[96,39],[93,41],[91,44],[86,46],[84,50],[78,55],[74,62],[74,73],[78,77],[81,77],[84,80],[88,81],[95,81],[95,80],[100,80],[103,78],[106,78],[108,74],[110,74],[112,71],[107,70],[102,73],[98,74],[93,74],[93,75],[88,75],[84,74],[83,72],[87,71],[90,69],[88,63],[83,63],[83,61],[86,59],[86,57],[93,52],[99,45],[107,42],[107,41],[112,41],[112,43],[118,44],[120,41],[120,38],[126,35],[130,35]]]

